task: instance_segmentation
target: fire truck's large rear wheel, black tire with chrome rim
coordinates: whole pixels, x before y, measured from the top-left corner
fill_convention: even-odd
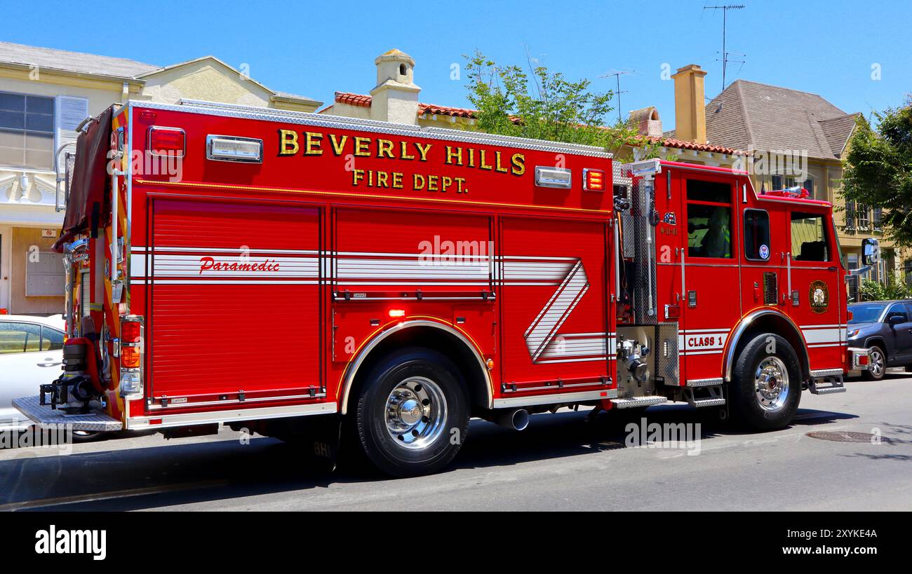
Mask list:
[[[391,354],[368,375],[356,411],[368,459],[395,477],[450,464],[469,430],[469,398],[444,355],[413,347]]]

